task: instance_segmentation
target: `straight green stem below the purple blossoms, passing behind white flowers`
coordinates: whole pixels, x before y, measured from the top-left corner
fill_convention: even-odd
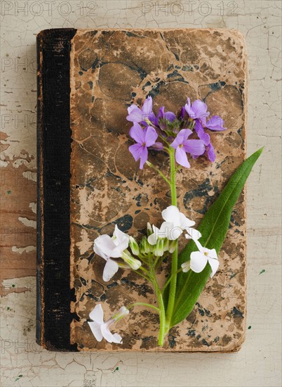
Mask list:
[[[176,194],[176,184],[175,184],[175,150],[170,147],[170,193],[171,193],[171,204],[177,207],[177,194]],[[177,272],[177,257],[178,257],[178,246],[176,246],[171,257],[171,272]],[[173,317],[173,308],[175,303],[175,293],[176,293],[176,282],[177,276],[173,276],[170,280],[170,288],[168,295],[168,308],[166,311],[166,333],[170,329],[170,321]]]

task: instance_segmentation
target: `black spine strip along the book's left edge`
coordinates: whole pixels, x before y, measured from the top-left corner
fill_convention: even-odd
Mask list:
[[[36,342],[48,350],[70,344],[69,55],[76,30],[37,35],[37,262]]]

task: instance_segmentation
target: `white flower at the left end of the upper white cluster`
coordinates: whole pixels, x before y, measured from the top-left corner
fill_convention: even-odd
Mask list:
[[[119,265],[110,258],[120,258],[123,251],[128,248],[129,236],[124,234],[117,225],[114,228],[114,234],[111,238],[109,235],[100,235],[94,242],[94,251],[107,262],[104,267],[103,281],[107,282],[119,270]]]

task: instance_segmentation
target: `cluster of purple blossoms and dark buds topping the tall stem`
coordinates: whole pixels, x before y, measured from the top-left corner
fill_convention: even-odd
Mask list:
[[[187,168],[190,167],[187,154],[198,158],[206,153],[210,161],[215,161],[215,150],[205,129],[220,132],[226,128],[219,115],[213,115],[208,120],[209,115],[206,103],[197,99],[191,104],[189,98],[178,117],[172,112],[165,112],[164,106],[155,115],[152,97],[149,96],[142,108],[136,105],[128,108],[127,120],[133,122],[129,134],[135,140],[129,151],[135,161],[140,159],[140,169],[148,159],[148,148],[166,151],[167,146],[173,147],[176,162]],[[192,139],[194,133],[199,139]]]

